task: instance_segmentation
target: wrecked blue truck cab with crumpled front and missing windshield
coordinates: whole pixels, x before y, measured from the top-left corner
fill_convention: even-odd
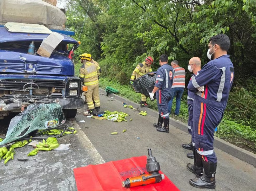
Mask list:
[[[0,119],[34,103],[57,103],[67,118],[84,107],[81,80],[69,58],[79,43],[60,32],[64,40],[50,57],[43,57],[28,54],[29,45],[34,41],[38,49],[49,34],[9,32],[0,27]]]

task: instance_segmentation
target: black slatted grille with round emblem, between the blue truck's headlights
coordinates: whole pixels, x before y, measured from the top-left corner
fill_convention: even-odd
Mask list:
[[[8,79],[8,80],[0,80],[0,90],[16,90],[23,91],[23,87],[27,83],[34,83],[39,88],[56,88],[56,89],[64,89],[65,82],[63,80],[20,80],[20,79]],[[37,89],[37,86],[33,85]],[[29,88],[31,85],[27,84],[24,88]]]

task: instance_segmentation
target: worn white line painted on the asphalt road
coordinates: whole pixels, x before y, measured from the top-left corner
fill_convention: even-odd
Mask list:
[[[84,148],[86,148],[87,152],[89,153],[90,157],[93,159],[95,164],[102,164],[105,163],[102,156],[98,153],[98,151],[95,149],[91,141],[88,139],[88,137],[84,134],[84,131],[80,128],[80,126],[77,124],[76,121],[72,121],[74,123],[73,127],[75,129],[78,129],[77,131],[78,138],[80,139],[81,143],[83,144]]]

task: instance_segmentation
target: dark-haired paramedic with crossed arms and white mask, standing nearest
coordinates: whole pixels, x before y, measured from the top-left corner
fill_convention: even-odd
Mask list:
[[[230,40],[225,34],[210,38],[207,57],[211,61],[195,73],[192,83],[188,84],[188,90],[195,93],[193,119],[197,156],[194,156],[195,164],[188,163],[187,169],[198,177],[189,181],[197,188],[215,188],[217,157],[213,135],[223,117],[234,78],[234,67],[227,55],[229,47]]]

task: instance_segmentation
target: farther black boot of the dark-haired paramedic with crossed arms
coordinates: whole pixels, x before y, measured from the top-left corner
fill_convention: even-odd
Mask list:
[[[194,149],[193,154],[194,164],[187,163],[187,169],[194,173],[196,177],[200,178],[204,174],[202,156],[197,153],[196,149]]]

